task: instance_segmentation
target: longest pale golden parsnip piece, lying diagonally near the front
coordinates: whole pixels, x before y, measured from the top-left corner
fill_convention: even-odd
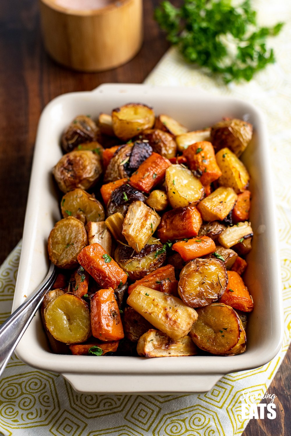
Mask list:
[[[174,340],[188,334],[197,319],[197,312],[179,298],[141,285],[132,291],[127,304]]]

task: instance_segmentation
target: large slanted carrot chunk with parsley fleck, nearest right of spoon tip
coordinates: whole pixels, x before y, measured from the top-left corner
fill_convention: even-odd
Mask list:
[[[127,281],[127,274],[97,242],[79,252],[78,262],[100,286],[116,289]]]

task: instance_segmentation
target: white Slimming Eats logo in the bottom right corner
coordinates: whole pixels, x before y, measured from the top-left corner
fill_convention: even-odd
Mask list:
[[[241,413],[242,419],[264,419],[267,416],[268,419],[275,419],[276,404],[274,399],[277,397],[275,394],[252,394],[250,391],[243,392],[241,399]],[[264,399],[269,399],[269,403],[260,403]]]

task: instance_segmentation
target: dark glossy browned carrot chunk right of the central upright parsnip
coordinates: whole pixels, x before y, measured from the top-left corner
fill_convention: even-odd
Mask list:
[[[193,238],[197,236],[202,225],[201,215],[195,207],[185,206],[172,209],[162,216],[157,229],[157,237],[164,244],[173,239]]]

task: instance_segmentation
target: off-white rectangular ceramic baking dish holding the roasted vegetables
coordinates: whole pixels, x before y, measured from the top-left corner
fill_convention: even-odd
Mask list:
[[[52,354],[38,314],[17,346],[17,356],[35,368],[61,373],[80,392],[205,392],[229,372],[257,368],[270,361],[279,351],[283,336],[267,133],[260,112],[248,102],[201,95],[191,88],[122,84],[102,85],[92,92],[69,93],[51,101],[38,126],[13,310],[48,270],[47,238],[61,218],[51,169],[62,156],[59,140],[63,129],[79,114],[91,114],[94,119],[99,112],[110,113],[127,102],[144,102],[157,114],[167,113],[189,129],[211,126],[225,116],[245,119],[254,126],[253,140],[242,157],[251,175],[250,221],[254,232],[245,276],[254,300],[246,352],[229,357],[155,359]]]

